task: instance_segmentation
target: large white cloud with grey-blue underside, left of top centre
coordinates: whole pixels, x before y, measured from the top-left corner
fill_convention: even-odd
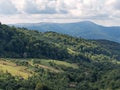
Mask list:
[[[23,10],[29,14],[67,13],[67,10],[59,5],[59,0],[25,0]]]

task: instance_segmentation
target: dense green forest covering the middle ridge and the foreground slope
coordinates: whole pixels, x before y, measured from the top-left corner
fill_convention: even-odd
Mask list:
[[[119,90],[119,47],[107,40],[0,25],[0,68],[11,67],[9,62],[26,67],[31,74],[23,78],[0,69],[0,90]],[[45,60],[52,61],[42,63]]]

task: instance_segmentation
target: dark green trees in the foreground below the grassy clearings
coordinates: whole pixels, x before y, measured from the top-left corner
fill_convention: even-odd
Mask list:
[[[27,61],[29,60],[26,60],[26,62]],[[61,66],[58,65],[57,67],[63,70],[63,72],[59,73],[41,69],[41,67],[28,66],[28,68],[31,68],[36,73],[28,79],[23,79],[18,76],[13,77],[8,72],[4,73],[0,71],[0,88],[3,90],[120,89],[119,64],[94,61],[90,63],[77,62],[77,64],[79,66],[78,68],[65,66],[62,66],[63,68],[61,68]]]

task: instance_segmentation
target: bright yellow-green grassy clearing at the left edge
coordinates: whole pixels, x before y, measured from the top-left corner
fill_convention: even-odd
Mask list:
[[[32,75],[30,71],[28,71],[28,68],[25,66],[17,66],[15,63],[12,63],[10,61],[3,61],[0,60],[0,70],[3,72],[9,72],[13,76],[21,76],[24,79],[28,78]]]

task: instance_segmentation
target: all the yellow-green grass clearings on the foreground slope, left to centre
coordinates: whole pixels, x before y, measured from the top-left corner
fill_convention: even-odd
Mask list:
[[[19,61],[28,61],[30,66],[18,66],[14,61],[19,60]],[[33,60],[38,60],[40,63],[35,63],[33,64]],[[53,66],[51,65],[54,64]],[[38,66],[39,68],[43,68],[45,70],[49,70],[51,72],[55,73],[60,73],[63,72],[62,67],[65,68],[73,68],[73,69],[78,69],[78,65],[75,63],[68,63],[65,61],[58,61],[58,60],[47,60],[47,59],[0,59],[0,70],[3,72],[9,72],[13,76],[21,76],[24,79],[27,79],[28,77],[32,76],[33,69],[31,69],[34,66]]]

